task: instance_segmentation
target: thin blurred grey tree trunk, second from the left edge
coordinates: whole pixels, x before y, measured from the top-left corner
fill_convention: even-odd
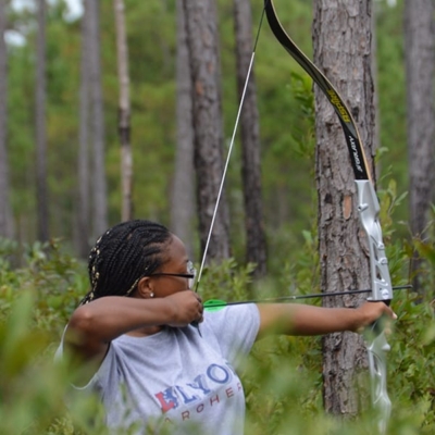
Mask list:
[[[47,188],[47,135],[46,135],[46,0],[38,0],[38,34],[36,54],[36,196],[38,239],[49,238]]]

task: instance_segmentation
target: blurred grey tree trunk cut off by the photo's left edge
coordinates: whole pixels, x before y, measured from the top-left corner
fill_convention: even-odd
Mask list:
[[[0,237],[13,238],[13,217],[9,191],[9,165],[7,147],[8,126],[8,53],[4,42],[7,7],[0,0]]]

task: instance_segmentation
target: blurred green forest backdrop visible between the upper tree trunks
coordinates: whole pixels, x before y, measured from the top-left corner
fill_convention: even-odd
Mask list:
[[[175,4],[170,1],[125,2],[129,50],[132,145],[134,159],[134,215],[170,224],[171,190],[175,163]],[[383,167],[380,184],[408,186],[406,87],[400,3],[377,2],[378,112]],[[312,8],[294,1],[279,7],[281,20],[300,48],[312,57]],[[235,80],[234,30],[231,2],[219,3],[222,57],[223,113],[226,142],[233,133],[238,98]],[[80,23],[65,18],[62,2],[54,2],[47,17],[47,144],[49,234],[74,248],[77,228],[77,159],[79,134]],[[259,23],[261,8],[253,8]],[[35,15],[23,10],[12,20],[24,27],[25,45],[9,47],[8,151],[11,200],[21,243],[37,238],[35,150]],[[119,79],[113,5],[101,2],[101,71],[104,103],[105,169],[109,222],[121,220],[120,139],[117,136]],[[152,44],[150,44],[152,41]],[[309,98],[310,80],[287,60],[273,35],[262,28],[256,55],[260,111],[261,165],[265,225],[270,246],[298,246],[301,232],[311,226],[315,187],[311,120],[298,98]],[[300,89],[304,85],[304,88]],[[303,108],[302,108],[303,109]],[[290,128],[284,128],[284,125]],[[235,147],[236,151],[238,147]],[[231,202],[235,253],[243,240],[240,163],[235,152],[229,165],[227,197]],[[407,222],[407,201],[397,204],[396,221]],[[290,229],[290,231],[287,231]],[[409,235],[397,225],[397,237]],[[94,240],[98,234],[94,234]],[[291,237],[294,240],[288,240]],[[295,241],[295,245],[291,244]],[[285,248],[284,248],[285,249]],[[197,252],[199,257],[200,252]]]

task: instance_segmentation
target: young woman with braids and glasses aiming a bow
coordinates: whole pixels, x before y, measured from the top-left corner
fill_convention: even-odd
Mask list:
[[[61,350],[67,347],[87,369],[77,388],[101,397],[109,427],[243,434],[245,396],[236,369],[257,339],[268,332],[357,331],[383,314],[394,318],[383,302],[358,309],[241,304],[204,314],[194,278],[183,243],[153,222],[115,225],[92,248],[91,289]]]

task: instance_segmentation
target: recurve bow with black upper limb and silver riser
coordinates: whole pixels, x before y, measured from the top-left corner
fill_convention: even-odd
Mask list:
[[[384,301],[389,304],[393,299],[393,288],[378,221],[380,203],[368,170],[366,158],[357,125],[338,91],[287,35],[279,23],[272,0],[264,0],[264,10],[269,25],[279,44],[324,92],[339,119],[355,173],[359,217],[369,244],[372,287],[372,295],[369,300]],[[378,322],[371,330],[373,334],[368,338],[368,352],[372,403],[380,414],[378,431],[381,434],[385,434],[391,409],[386,388],[386,355],[389,351],[389,345]]]

